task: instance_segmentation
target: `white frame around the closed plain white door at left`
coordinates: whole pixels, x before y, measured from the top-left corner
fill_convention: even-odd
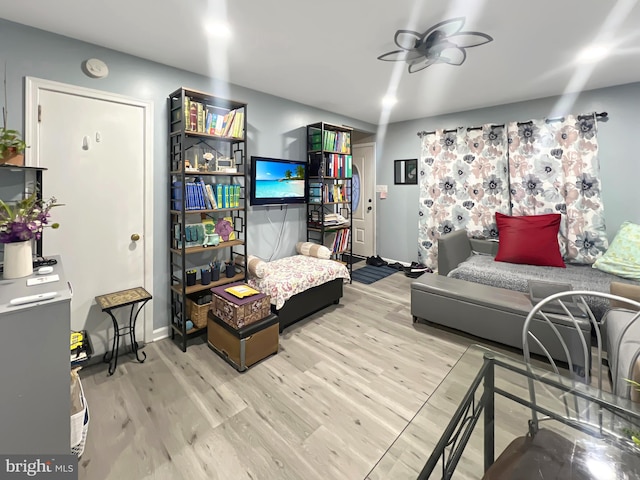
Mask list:
[[[25,150],[25,165],[29,167],[40,166],[38,151],[38,104],[41,91],[51,91],[87,97],[106,102],[121,103],[143,109],[144,118],[144,162],[142,176],[144,178],[143,192],[143,235],[144,235],[144,274],[142,287],[153,294],[153,102],[140,100],[125,95],[120,95],[92,88],[79,87],[66,83],[44,80],[36,77],[25,77],[25,114],[24,114],[24,139],[31,148]],[[147,302],[144,306],[144,343],[153,341],[153,302]]]

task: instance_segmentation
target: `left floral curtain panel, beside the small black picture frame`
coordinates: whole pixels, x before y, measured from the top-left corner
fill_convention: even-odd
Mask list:
[[[437,268],[438,238],[466,229],[496,237],[495,212],[509,213],[504,127],[436,130],[422,135],[418,257]]]

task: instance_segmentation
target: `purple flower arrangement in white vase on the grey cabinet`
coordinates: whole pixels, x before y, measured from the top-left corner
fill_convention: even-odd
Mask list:
[[[40,240],[48,225],[49,210],[56,206],[51,197],[43,201],[34,191],[11,205],[0,200],[0,243],[4,243],[3,276],[21,278],[33,273],[33,240]],[[50,225],[58,228],[57,223]]]

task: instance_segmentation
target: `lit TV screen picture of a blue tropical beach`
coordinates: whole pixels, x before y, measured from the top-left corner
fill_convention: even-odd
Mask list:
[[[305,168],[303,162],[256,159],[255,198],[304,201]]]

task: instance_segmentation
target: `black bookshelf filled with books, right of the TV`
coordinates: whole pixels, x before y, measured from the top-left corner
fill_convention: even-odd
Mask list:
[[[307,125],[307,241],[325,245],[341,262],[353,253],[351,133],[326,122]],[[343,263],[351,273],[351,262]]]

